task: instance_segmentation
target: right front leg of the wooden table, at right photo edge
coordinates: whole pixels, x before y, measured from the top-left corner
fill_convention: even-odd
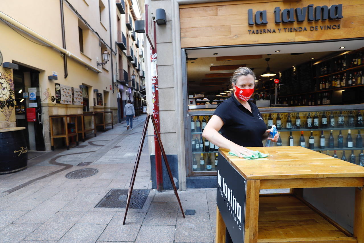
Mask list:
[[[364,188],[355,188],[354,237],[364,243]]]

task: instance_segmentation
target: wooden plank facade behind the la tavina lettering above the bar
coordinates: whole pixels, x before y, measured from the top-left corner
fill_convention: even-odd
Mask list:
[[[181,45],[186,47],[244,45],[254,43],[297,42],[356,38],[364,36],[363,0],[302,0],[302,1],[227,1],[203,4],[180,5]],[[274,22],[274,7],[297,8],[321,5],[343,4],[341,20],[281,23]],[[211,5],[211,6],[209,6]],[[187,8],[186,8],[187,7]],[[249,26],[248,9],[267,10],[267,25]],[[211,11],[209,11],[211,9]],[[195,13],[193,13],[195,12]],[[217,14],[217,15],[215,15]],[[195,17],[193,17],[195,16]],[[340,24],[340,29],[337,25]],[[336,29],[321,29],[321,26],[334,26]],[[316,27],[310,29],[310,27]],[[290,27],[306,27],[307,31],[289,32]],[[281,29],[279,32],[278,28]],[[273,31],[275,30],[275,32]],[[250,33],[249,34],[249,30]],[[252,34],[254,30],[254,34]],[[256,34],[256,30],[259,34]],[[270,30],[270,33],[268,30]],[[230,31],[230,32],[229,32]],[[264,32],[265,31],[265,32]],[[285,32],[286,31],[286,32]],[[211,38],[213,37],[213,38]]]

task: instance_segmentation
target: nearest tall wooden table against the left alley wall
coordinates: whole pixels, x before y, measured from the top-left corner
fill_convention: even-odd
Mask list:
[[[51,115],[49,116],[50,130],[51,130],[51,149],[54,150],[54,139],[55,138],[66,138],[67,150],[70,150],[70,137],[76,136],[76,145],[78,146],[78,126],[77,126],[77,114],[75,115]],[[68,120],[75,119],[75,132],[68,133]],[[63,119],[64,127],[61,134],[54,134],[53,131],[53,119]]]

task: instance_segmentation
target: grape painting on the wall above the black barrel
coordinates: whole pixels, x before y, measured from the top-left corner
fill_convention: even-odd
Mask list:
[[[0,112],[4,114],[5,121],[9,121],[15,105],[14,82],[11,71],[5,70],[0,74]]]

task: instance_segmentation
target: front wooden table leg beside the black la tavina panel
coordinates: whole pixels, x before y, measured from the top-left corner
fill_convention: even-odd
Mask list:
[[[258,242],[259,180],[246,181],[244,242]]]

